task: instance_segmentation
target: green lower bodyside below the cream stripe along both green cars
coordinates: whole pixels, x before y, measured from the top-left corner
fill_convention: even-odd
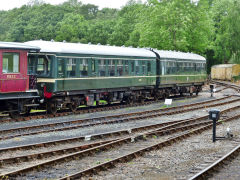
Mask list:
[[[190,76],[160,76],[160,84],[199,83],[206,80],[206,75]],[[156,77],[118,77],[118,78],[80,78],[56,79],[45,82],[48,92],[113,89],[137,86],[155,86]]]

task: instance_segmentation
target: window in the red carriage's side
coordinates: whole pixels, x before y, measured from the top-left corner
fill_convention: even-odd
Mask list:
[[[19,73],[19,54],[3,53],[3,73]]]

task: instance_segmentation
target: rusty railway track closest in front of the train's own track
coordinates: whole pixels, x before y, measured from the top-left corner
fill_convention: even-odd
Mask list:
[[[79,129],[79,128],[97,126],[97,125],[103,125],[103,124],[124,123],[129,121],[137,121],[142,119],[160,117],[164,115],[179,114],[179,113],[193,111],[197,109],[214,107],[216,105],[234,103],[239,100],[240,98],[224,97],[220,99],[204,101],[204,102],[195,103],[195,104],[188,104],[188,105],[179,106],[179,107],[171,107],[166,109],[155,109],[151,111],[103,116],[103,117],[90,118],[90,119],[79,119],[79,120],[72,120],[72,121],[70,120],[70,121],[62,121],[62,122],[56,122],[56,123],[46,123],[46,124],[38,124],[38,125],[32,125],[32,126],[0,129],[0,140],[10,139],[10,138],[15,138],[20,136],[36,135],[41,133]]]

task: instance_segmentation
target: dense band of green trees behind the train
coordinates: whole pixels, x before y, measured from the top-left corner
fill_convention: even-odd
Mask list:
[[[120,10],[68,0],[0,11],[0,40],[152,47],[205,55],[209,65],[240,63],[239,0],[130,0]]]

